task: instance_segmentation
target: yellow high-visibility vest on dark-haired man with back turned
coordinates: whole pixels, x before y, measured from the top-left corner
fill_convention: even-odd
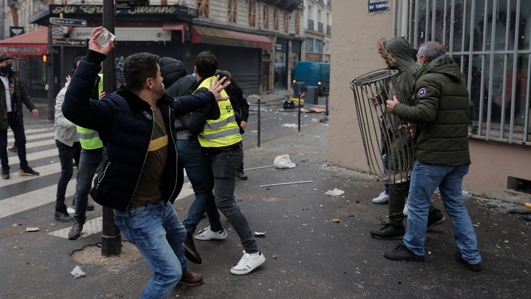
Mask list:
[[[209,89],[210,82],[215,78],[212,76],[203,80],[194,93],[203,87]],[[221,96],[226,97],[227,93],[223,90]],[[218,101],[218,107],[221,114],[219,118],[207,120],[203,131],[198,135],[198,141],[202,147],[226,147],[239,143],[242,139],[230,100]]]

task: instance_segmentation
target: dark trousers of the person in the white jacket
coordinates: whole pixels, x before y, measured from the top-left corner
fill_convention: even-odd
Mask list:
[[[55,140],[55,145],[59,150],[59,161],[61,162],[61,176],[57,183],[57,195],[55,197],[55,211],[66,212],[66,205],[64,204],[64,194],[66,194],[66,186],[74,173],[74,155],[77,149],[80,148],[80,143],[75,142],[72,146],[68,146],[61,141]]]

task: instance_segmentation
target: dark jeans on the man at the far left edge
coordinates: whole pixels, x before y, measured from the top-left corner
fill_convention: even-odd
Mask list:
[[[21,109],[19,107],[19,109]],[[8,124],[13,131],[15,144],[17,144],[17,154],[19,155],[19,167],[28,167],[26,160],[26,134],[24,134],[24,124],[17,120],[16,112],[8,112]],[[9,170],[8,160],[8,129],[0,129],[0,162],[3,169]]]

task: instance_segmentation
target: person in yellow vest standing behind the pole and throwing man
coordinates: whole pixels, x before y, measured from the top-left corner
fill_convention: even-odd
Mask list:
[[[91,99],[98,100],[102,91],[103,75],[98,74]],[[73,205],[75,206],[74,224],[68,232],[68,239],[71,240],[80,237],[86,221],[86,211],[94,210],[93,204],[88,202],[88,192],[91,191],[92,179],[103,158],[103,143],[97,132],[78,125],[75,127],[77,129],[77,137],[80,138],[81,156],[80,164],[77,166],[77,182],[75,183],[73,200]]]

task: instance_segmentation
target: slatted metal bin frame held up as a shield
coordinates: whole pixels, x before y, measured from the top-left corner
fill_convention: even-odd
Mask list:
[[[349,83],[354,93],[367,165],[386,183],[409,181],[414,161],[413,125],[386,110],[385,101],[393,95],[400,102],[411,104],[411,99],[402,96],[398,89],[397,74],[395,70],[380,69]],[[406,129],[400,130],[400,126]],[[382,154],[387,155],[387,167],[383,165]]]

